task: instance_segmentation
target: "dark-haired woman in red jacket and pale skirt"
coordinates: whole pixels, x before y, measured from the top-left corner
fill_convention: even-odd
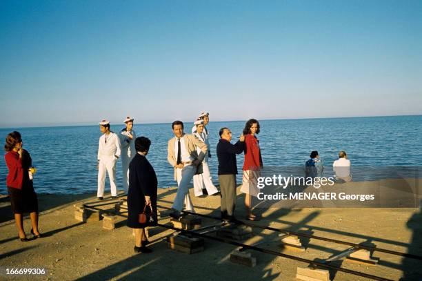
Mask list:
[[[257,134],[259,134],[258,120],[249,119],[243,129],[245,162],[243,164],[243,184],[241,187],[241,192],[245,193],[246,220],[258,220],[257,216],[252,214],[252,196],[258,196],[258,177],[261,176],[261,168],[263,167]]]

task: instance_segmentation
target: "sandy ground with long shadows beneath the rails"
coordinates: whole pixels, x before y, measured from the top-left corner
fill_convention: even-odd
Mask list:
[[[191,195],[193,193],[192,189]],[[176,189],[159,190],[159,205],[171,206]],[[238,188],[239,193],[239,188]],[[243,219],[243,195],[238,197],[237,217]],[[74,202],[93,202],[91,195],[39,195],[41,208],[40,230],[46,237],[21,242],[17,239],[14,222],[10,221],[7,198],[0,198],[0,267],[44,268],[43,276],[10,277],[3,280],[295,280],[297,267],[308,264],[265,253],[251,252],[257,257],[253,268],[232,264],[228,257],[235,246],[205,240],[205,251],[188,255],[167,248],[162,242],[172,231],[156,227],[150,229],[150,254],[133,252],[132,229],[119,219],[117,228],[102,229],[102,222],[82,223],[74,219]],[[198,213],[219,215],[218,196],[194,198]],[[104,200],[103,202],[117,202]],[[112,209],[114,205],[104,206]],[[422,255],[422,213],[419,209],[266,209],[262,210],[261,225],[291,231],[307,231],[314,235],[348,242],[369,241],[376,246]],[[168,220],[162,220],[167,223]],[[217,221],[203,219],[203,225]],[[30,237],[30,222],[25,220]],[[281,251],[279,233],[254,229],[254,237],[246,244]],[[348,249],[348,246],[320,240],[303,240],[306,251],[284,251],[310,260],[328,258]],[[375,252],[376,266],[340,260],[334,265],[363,271],[392,280],[420,280],[422,262],[396,255]],[[334,280],[367,280],[356,275],[331,272]]]

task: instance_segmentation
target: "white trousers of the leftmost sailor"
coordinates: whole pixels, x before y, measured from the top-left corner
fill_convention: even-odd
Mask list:
[[[114,155],[111,156],[101,156],[98,163],[98,191],[97,197],[104,196],[104,188],[106,184],[106,173],[108,173],[108,178],[110,179],[110,189],[112,196],[117,196],[117,186],[116,186],[116,162],[117,158]]]

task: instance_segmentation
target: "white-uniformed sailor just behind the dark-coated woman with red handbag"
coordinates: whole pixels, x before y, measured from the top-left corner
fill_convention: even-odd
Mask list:
[[[123,189],[125,193],[128,193],[129,188],[129,163],[132,161],[134,155],[137,154],[134,148],[134,140],[137,139],[133,128],[133,118],[126,117],[123,123],[126,127],[120,132],[120,143],[121,143],[121,169],[123,171]]]

